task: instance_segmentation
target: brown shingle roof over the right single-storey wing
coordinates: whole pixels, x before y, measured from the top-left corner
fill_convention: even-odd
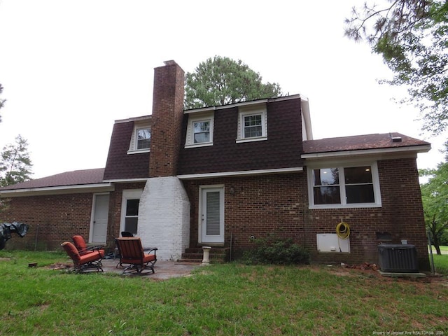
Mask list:
[[[394,138],[396,141],[393,141]],[[398,141],[399,138],[401,141]],[[385,133],[307,140],[303,141],[303,151],[304,154],[313,154],[429,145],[426,141],[407,137],[400,133]]]

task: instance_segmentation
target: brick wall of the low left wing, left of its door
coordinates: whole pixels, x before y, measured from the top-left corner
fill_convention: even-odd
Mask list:
[[[53,250],[73,235],[89,237],[92,200],[91,193],[11,198],[0,222],[25,223],[29,231],[23,238],[13,235],[6,248]]]

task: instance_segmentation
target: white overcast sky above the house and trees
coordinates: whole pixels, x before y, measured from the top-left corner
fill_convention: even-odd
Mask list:
[[[344,37],[351,1],[0,0],[0,149],[29,142],[34,178],[106,165],[114,120],[152,111],[153,69],[241,59],[283,92],[309,98],[314,139],[421,134],[404,90],[370,47]]]

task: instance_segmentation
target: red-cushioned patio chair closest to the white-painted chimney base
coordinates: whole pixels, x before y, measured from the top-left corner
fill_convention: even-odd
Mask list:
[[[116,238],[115,241],[120,252],[120,262],[117,267],[125,267],[122,274],[126,272],[141,273],[144,269],[151,269],[154,273],[154,264],[157,261],[155,251],[158,248],[145,249],[147,251],[145,253],[139,237],[122,237]]]

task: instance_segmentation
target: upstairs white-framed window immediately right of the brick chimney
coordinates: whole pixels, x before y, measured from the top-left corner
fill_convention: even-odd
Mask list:
[[[186,134],[185,146],[213,146],[214,115],[207,113],[201,116],[190,116]]]

